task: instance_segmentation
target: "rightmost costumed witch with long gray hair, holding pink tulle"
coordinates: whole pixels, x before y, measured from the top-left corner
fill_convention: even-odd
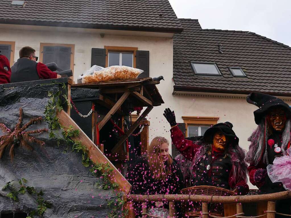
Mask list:
[[[275,158],[288,155],[291,108],[277,97],[258,92],[250,93],[246,101],[259,107],[254,111],[258,127],[248,139],[251,144],[245,159],[249,163],[250,182],[259,188],[260,194],[286,191],[281,182],[271,181],[266,168],[273,164]],[[290,199],[276,201],[276,211],[279,213],[290,215],[290,207]]]

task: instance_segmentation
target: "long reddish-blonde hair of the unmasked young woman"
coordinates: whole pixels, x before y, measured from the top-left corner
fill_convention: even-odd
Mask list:
[[[161,156],[161,144],[167,143],[169,145],[168,140],[164,137],[155,137],[150,145],[148,146],[148,162],[150,165],[150,171],[154,175],[155,180],[166,180],[166,175],[172,174],[171,165],[173,163],[173,158],[168,155],[167,160],[167,169],[165,168],[164,162]]]

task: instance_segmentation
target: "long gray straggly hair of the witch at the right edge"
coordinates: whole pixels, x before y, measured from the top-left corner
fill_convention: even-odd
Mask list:
[[[249,146],[249,151],[246,153],[245,161],[248,162],[250,165],[258,165],[263,157],[263,161],[265,164],[269,164],[268,156],[267,156],[267,139],[268,137],[268,125],[266,120],[262,119],[262,122],[258,125],[258,127],[253,131],[251,136],[249,137],[248,141],[251,142]],[[285,129],[282,135],[282,152],[285,155],[287,152],[287,146],[290,141],[290,120],[286,121]],[[266,136],[265,136],[266,132]]]

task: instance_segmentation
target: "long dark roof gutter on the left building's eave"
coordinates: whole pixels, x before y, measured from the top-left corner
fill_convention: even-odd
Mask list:
[[[7,19],[0,19],[0,24],[16,24],[16,25],[31,25],[31,26],[57,26],[57,27],[89,28],[89,29],[143,31],[143,32],[157,32],[157,33],[181,33],[183,31],[183,28],[95,25],[95,24],[22,21],[22,20],[7,20]]]

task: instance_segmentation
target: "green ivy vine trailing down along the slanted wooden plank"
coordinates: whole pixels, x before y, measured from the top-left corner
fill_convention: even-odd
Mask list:
[[[59,84],[59,83],[53,83]],[[66,85],[62,83],[62,89],[66,90]],[[82,164],[85,167],[90,167],[90,172],[98,177],[99,179],[95,183],[95,188],[100,188],[102,190],[109,190],[111,189],[112,192],[115,194],[116,197],[110,198],[107,200],[107,208],[109,208],[108,217],[109,218],[117,218],[117,217],[124,217],[127,215],[127,210],[123,210],[123,194],[122,192],[118,192],[117,189],[119,187],[118,183],[110,182],[108,176],[112,173],[113,169],[109,166],[108,163],[94,163],[87,155],[87,148],[86,146],[82,145],[81,141],[72,140],[71,137],[77,137],[79,135],[79,130],[73,128],[73,126],[65,127],[62,126],[58,122],[58,117],[56,116],[57,112],[61,112],[63,109],[61,96],[66,99],[68,106],[71,108],[71,104],[68,101],[68,97],[66,95],[61,95],[61,90],[58,92],[49,92],[49,101],[47,106],[45,107],[45,119],[49,124],[49,137],[55,138],[57,140],[58,145],[62,140],[66,145],[72,145],[72,151],[81,152],[82,153]],[[61,129],[63,138],[61,139],[60,136],[57,134],[57,130]]]

